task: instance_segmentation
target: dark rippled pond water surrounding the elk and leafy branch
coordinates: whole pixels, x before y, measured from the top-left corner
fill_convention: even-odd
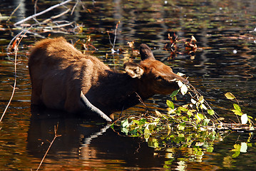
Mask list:
[[[4,111],[14,84],[14,54],[7,57],[6,47],[20,32],[11,26],[16,21],[34,14],[31,1],[1,1],[0,13],[10,16],[8,24],[0,21],[0,108]],[[39,1],[38,11],[58,4],[58,1]],[[72,8],[75,3],[68,4]],[[103,62],[122,70],[122,64],[138,57],[128,47],[128,41],[148,43],[158,60],[170,65],[175,72],[185,73],[190,83],[202,92],[219,113],[231,115],[232,102],[225,100],[230,91],[240,100],[242,110],[256,117],[256,1],[85,1],[86,9],[78,6],[72,16],[58,20],[76,21],[83,24],[83,32],[64,34],[41,31],[41,36],[65,36],[75,43],[91,36],[91,43],[98,51],[91,51]],[[60,14],[58,8],[39,21]],[[111,55],[113,33],[118,21],[116,49],[125,53]],[[34,24],[33,19],[29,21]],[[67,28],[69,29],[69,28]],[[44,32],[44,33],[42,33]],[[180,40],[195,36],[198,51],[185,53],[183,43],[178,44],[176,56],[163,47],[170,35]],[[61,113],[30,108],[31,85],[27,68],[29,48],[41,38],[33,33],[21,41],[18,53],[17,89],[14,99],[0,125],[1,170],[36,170],[48,145],[58,134],[41,166],[42,170],[254,170],[256,167],[255,137],[249,134],[230,133],[222,140],[213,142],[213,151],[203,145],[194,147],[166,147],[154,149],[138,138],[127,138],[108,129],[100,121],[79,118],[61,118]],[[77,43],[77,48],[81,45]],[[108,53],[108,56],[106,55]],[[164,109],[168,97],[155,95],[147,103],[152,110]],[[185,100],[180,97],[180,100]],[[153,107],[151,107],[153,106]],[[142,105],[128,109],[126,113],[139,113]],[[31,113],[40,113],[31,117]],[[233,116],[230,118],[234,119]],[[237,151],[237,145],[247,146],[246,152]],[[235,154],[238,154],[235,156]]]

